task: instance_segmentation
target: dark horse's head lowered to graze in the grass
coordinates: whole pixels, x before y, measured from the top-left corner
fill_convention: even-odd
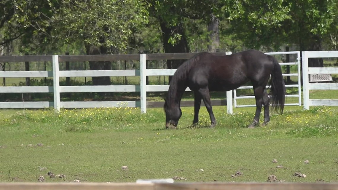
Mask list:
[[[178,120],[182,116],[182,110],[179,108],[179,105],[169,106],[167,101],[165,101],[164,111],[166,113],[166,128],[176,128]]]

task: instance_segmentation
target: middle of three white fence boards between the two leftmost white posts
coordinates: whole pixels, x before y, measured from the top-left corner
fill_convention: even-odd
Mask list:
[[[135,85],[60,86],[60,92],[140,92]]]

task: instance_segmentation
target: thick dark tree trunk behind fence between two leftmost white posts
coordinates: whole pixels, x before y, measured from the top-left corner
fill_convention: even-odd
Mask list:
[[[86,44],[86,53],[87,55],[98,55],[98,54],[107,54],[108,48],[106,47],[95,47],[91,44]],[[111,70],[112,62],[110,61],[90,61],[89,62],[90,70]],[[92,77],[93,85],[112,85],[109,76],[95,76]]]

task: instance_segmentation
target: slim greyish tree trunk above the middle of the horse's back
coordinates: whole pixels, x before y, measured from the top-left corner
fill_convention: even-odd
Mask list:
[[[219,30],[218,30],[219,19],[216,18],[213,14],[211,14],[210,16],[211,16],[211,20],[208,24],[208,32],[209,32],[208,52],[218,52],[219,51]]]

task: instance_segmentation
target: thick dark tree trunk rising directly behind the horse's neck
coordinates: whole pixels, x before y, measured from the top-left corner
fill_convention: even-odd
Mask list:
[[[176,26],[168,27],[163,21],[160,22],[162,37],[163,37],[163,48],[165,53],[188,53],[189,47],[185,36],[183,24],[180,22]],[[171,36],[180,34],[181,38],[173,45],[169,42]],[[167,60],[168,69],[177,69],[185,60]],[[172,76],[169,76],[169,82]]]

